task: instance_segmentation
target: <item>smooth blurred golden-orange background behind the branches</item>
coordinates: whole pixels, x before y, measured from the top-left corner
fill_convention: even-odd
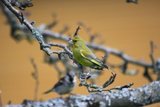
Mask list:
[[[54,31],[58,32],[64,25],[68,25],[73,33],[77,22],[82,21],[93,32],[102,35],[97,43],[103,41],[106,46],[122,50],[136,59],[151,62],[149,42],[153,40],[157,45],[155,58],[160,57],[160,0],[139,0],[137,5],[128,4],[126,0],[33,0],[33,4],[27,10],[31,13],[29,19],[35,21],[37,26],[50,23],[53,20],[52,14],[57,13],[59,24]],[[5,24],[3,13],[0,13],[0,19],[0,90],[3,102],[6,104],[11,100],[13,103],[20,103],[23,99],[33,99],[35,81],[31,77],[34,70],[30,63],[31,57],[35,59],[39,70],[38,98],[45,100],[57,97],[56,93],[42,94],[57,82],[57,73],[53,67],[44,63],[39,44],[29,44],[27,41],[17,43],[10,36],[10,27]],[[83,29],[80,32],[86,41],[89,40]],[[115,61],[115,58],[111,58],[110,62]],[[131,68],[138,69],[138,75],[126,76],[116,71],[118,75],[111,87],[130,82],[134,83],[133,87],[149,83],[143,77],[142,68]],[[109,75],[109,72],[105,73],[98,83],[103,83]],[[155,79],[154,75],[153,78]],[[78,86],[73,93],[88,94],[84,87]]]

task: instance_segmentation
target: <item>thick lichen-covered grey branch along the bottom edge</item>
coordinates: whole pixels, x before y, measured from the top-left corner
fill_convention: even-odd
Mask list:
[[[139,107],[160,102],[160,81],[136,89],[94,93],[88,96],[71,95],[67,98],[50,99],[43,102],[26,100],[22,105],[8,105],[8,107],[41,106],[41,107]]]

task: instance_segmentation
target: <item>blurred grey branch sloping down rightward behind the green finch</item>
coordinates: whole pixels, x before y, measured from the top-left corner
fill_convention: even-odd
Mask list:
[[[45,30],[42,33],[43,33],[44,36],[48,36],[48,37],[51,37],[51,38],[54,38],[54,39],[60,39],[60,40],[63,40],[65,42],[68,42],[68,40],[69,40],[69,37],[67,35],[61,35],[59,33],[51,32],[49,30]],[[108,53],[108,55],[112,54],[114,56],[117,56],[117,57],[121,58],[122,60],[124,60],[124,61],[126,61],[130,64],[138,65],[138,66],[141,66],[141,67],[152,68],[151,63],[136,60],[136,59],[132,58],[131,56],[129,56],[129,55],[123,53],[122,51],[117,50],[117,49],[109,48],[109,47],[106,47],[106,46],[103,46],[103,45],[98,45],[98,44],[95,44],[95,43],[87,43],[87,45],[92,49],[102,51],[104,53]]]

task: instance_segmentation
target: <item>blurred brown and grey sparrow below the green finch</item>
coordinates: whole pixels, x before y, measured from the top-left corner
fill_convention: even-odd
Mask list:
[[[69,94],[73,90],[75,83],[75,72],[69,71],[64,77],[60,78],[60,80],[51,89],[45,91],[44,94],[48,94],[50,92],[56,92],[59,95]]]

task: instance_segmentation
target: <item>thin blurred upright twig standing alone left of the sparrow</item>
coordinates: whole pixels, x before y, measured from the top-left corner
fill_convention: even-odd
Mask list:
[[[34,68],[34,71],[32,72],[32,77],[35,80],[35,90],[34,90],[34,100],[38,100],[38,92],[39,92],[39,73],[36,63],[34,62],[34,59],[31,58],[31,64]]]

